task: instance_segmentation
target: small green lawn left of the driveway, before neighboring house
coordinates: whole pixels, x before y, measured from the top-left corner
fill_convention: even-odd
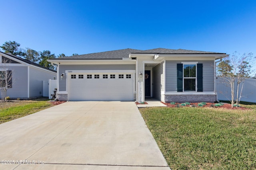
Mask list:
[[[41,100],[16,100],[0,102],[0,124],[36,113],[49,107],[52,107],[50,102]]]

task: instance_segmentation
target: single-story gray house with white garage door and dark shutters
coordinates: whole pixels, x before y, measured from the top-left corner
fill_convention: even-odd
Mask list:
[[[226,53],[122,49],[49,59],[58,100],[215,102],[216,62]]]

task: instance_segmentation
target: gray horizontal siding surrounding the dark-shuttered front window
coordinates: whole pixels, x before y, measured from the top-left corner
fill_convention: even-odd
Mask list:
[[[181,61],[166,61],[166,92],[177,92],[177,63]],[[203,92],[213,92],[214,61],[198,61],[198,63],[203,64]]]

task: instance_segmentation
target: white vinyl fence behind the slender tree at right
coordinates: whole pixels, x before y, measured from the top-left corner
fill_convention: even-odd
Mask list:
[[[223,83],[222,78],[218,77],[216,83],[218,100],[231,100],[231,88]],[[235,82],[235,99],[237,90],[236,85],[237,83]],[[241,88],[242,82],[239,85],[239,95]],[[248,78],[245,80],[242,89],[242,98],[240,99],[240,101],[256,103],[256,78]]]

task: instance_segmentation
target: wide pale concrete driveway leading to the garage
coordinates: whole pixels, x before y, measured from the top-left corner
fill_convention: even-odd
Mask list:
[[[0,169],[170,170],[134,102],[66,102],[0,125]]]

